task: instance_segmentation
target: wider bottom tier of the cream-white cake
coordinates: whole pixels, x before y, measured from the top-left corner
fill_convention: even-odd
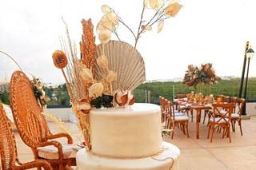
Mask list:
[[[140,159],[96,156],[83,148],[76,155],[77,170],[178,170],[179,154],[179,148],[167,142],[158,155]]]

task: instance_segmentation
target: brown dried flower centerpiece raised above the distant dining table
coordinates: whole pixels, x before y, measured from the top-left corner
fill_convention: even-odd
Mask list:
[[[185,76],[183,78],[183,83],[188,86],[197,87],[197,85],[214,85],[221,78],[216,76],[213,65],[210,63],[202,64],[200,68],[194,65],[188,65]]]

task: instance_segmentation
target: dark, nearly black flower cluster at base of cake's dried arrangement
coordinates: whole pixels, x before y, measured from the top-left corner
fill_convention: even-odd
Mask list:
[[[90,101],[90,105],[95,108],[111,108],[113,107],[113,96],[102,94],[101,97],[96,97],[94,100]]]

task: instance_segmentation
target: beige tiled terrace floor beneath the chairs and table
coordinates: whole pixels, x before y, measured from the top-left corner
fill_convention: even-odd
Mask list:
[[[52,132],[58,132],[54,123],[49,123]],[[75,124],[66,122],[65,126],[74,140],[82,139],[78,127]],[[256,117],[250,120],[242,120],[243,136],[237,132],[231,133],[232,143],[227,138],[222,139],[218,133],[214,133],[214,140],[206,138],[206,124],[200,127],[200,139],[195,138],[195,125],[190,122],[190,138],[187,138],[177,129],[174,133],[174,140],[164,137],[164,140],[177,145],[181,149],[180,170],[254,170],[256,169]],[[15,132],[18,145],[18,156],[20,160],[26,162],[33,160],[30,148],[23,144]]]

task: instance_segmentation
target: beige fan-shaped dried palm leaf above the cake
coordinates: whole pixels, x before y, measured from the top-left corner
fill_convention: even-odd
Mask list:
[[[104,53],[102,52],[104,49]],[[109,70],[116,73],[112,81],[113,91],[133,90],[146,80],[145,64],[137,49],[126,42],[110,41],[97,46],[98,57],[104,54],[109,61]],[[106,77],[107,69],[95,65],[95,78],[100,81]]]

